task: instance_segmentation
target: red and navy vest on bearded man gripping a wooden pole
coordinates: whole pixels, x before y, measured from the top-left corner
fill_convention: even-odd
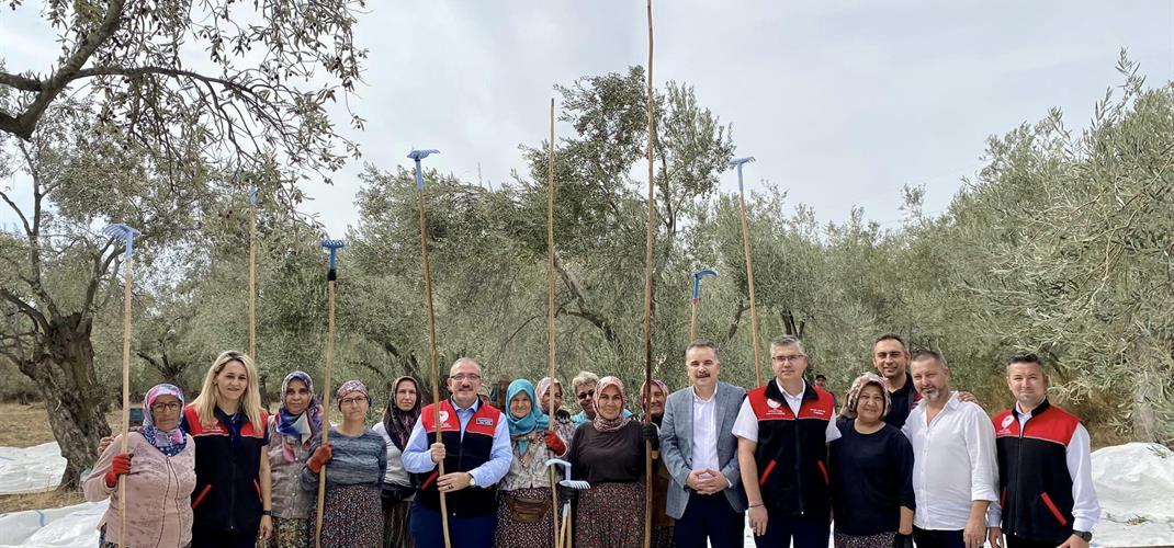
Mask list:
[[[431,404],[420,411],[424,432],[429,434],[429,446],[436,444],[436,411]],[[460,418],[451,399],[440,402],[440,439],[445,446],[444,473],[468,472],[490,461],[493,453],[493,433],[505,415],[491,405],[477,404],[479,407],[468,419],[464,437],[460,432]],[[424,474],[414,474],[420,486],[416,500],[426,508],[440,510],[440,492],[437,489],[438,469]],[[497,512],[497,492],[492,486],[468,487],[454,493],[445,493],[445,505],[448,515],[467,517],[493,514]]]

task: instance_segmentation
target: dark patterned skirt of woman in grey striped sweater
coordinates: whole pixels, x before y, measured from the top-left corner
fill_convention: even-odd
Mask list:
[[[323,548],[382,548],[383,501],[370,485],[330,486],[322,512]],[[317,501],[310,515],[318,512]],[[313,519],[310,521],[311,540]]]

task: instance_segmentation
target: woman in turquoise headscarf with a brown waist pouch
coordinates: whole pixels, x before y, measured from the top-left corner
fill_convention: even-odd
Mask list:
[[[498,485],[498,548],[554,546],[551,508],[551,473],[546,460],[567,452],[566,440],[547,429],[546,414],[538,408],[534,385],[526,379],[506,390],[506,422],[513,446],[510,473]]]

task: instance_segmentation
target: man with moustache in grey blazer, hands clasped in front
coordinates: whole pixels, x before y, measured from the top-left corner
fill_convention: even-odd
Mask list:
[[[664,404],[661,459],[673,482],[666,512],[676,520],[679,548],[742,546],[745,492],[731,433],[745,390],[717,380],[722,364],[714,344],[697,339],[684,352],[689,385]]]

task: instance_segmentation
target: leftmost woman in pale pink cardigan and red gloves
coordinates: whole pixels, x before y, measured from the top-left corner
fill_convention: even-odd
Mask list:
[[[143,398],[143,426],[120,434],[102,452],[82,485],[86,500],[110,499],[102,515],[99,546],[188,546],[191,542],[191,492],[196,488],[196,444],[180,429],[183,392],[162,384]],[[127,452],[122,453],[122,438]],[[119,498],[119,479],[127,499]],[[127,530],[119,529],[119,508]]]

